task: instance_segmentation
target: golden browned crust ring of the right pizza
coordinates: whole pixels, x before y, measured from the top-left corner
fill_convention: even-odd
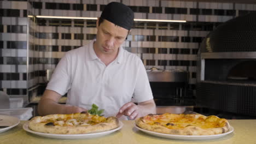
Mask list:
[[[207,123],[216,123],[217,125],[219,125],[219,127],[217,128],[201,128],[198,126],[195,126],[193,124],[183,124],[184,127],[180,127],[180,128],[167,128],[166,125],[161,124],[161,122],[154,122],[153,124],[151,122],[149,122],[149,118],[148,117],[152,117],[152,119],[155,120],[155,116],[160,116],[160,115],[148,115],[146,117],[141,117],[136,119],[136,125],[142,129],[146,129],[149,131],[155,131],[158,133],[164,133],[164,134],[173,134],[173,135],[216,135],[216,134],[222,134],[222,133],[226,133],[229,128],[230,128],[230,124],[226,119],[223,118],[218,118],[217,116],[203,116],[200,114],[189,114],[189,115],[177,115],[177,114],[170,114],[172,115],[171,117],[193,117],[194,119],[196,118],[203,118],[204,121]],[[167,115],[168,115],[167,114]],[[166,114],[164,114],[166,115]],[[166,121],[166,120],[165,120]],[[168,123],[167,123],[168,124]],[[171,125],[175,125],[175,123],[169,123]]]

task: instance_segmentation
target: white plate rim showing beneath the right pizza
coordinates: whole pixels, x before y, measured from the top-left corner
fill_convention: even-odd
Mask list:
[[[144,133],[154,135],[154,136],[164,137],[167,139],[174,139],[174,140],[212,140],[212,139],[218,139],[220,137],[228,135],[234,131],[234,128],[230,126],[230,129],[226,133],[218,134],[218,135],[170,135],[170,134],[156,133],[154,131],[145,130],[137,127],[137,125],[135,125],[135,127],[143,131]]]

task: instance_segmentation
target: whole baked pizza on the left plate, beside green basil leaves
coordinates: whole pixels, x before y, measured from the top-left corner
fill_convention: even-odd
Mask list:
[[[91,115],[89,112],[37,116],[28,122],[33,131],[50,134],[87,134],[118,127],[116,117]]]

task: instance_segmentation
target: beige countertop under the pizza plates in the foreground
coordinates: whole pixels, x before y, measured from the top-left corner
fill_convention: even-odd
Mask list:
[[[184,140],[171,140],[164,139],[161,137],[151,136],[137,130],[134,125],[134,121],[123,121],[124,126],[121,130],[115,131],[112,134],[96,137],[94,139],[80,139],[80,140],[60,140],[60,139],[50,139],[38,135],[34,135],[26,132],[22,129],[22,125],[26,121],[21,121],[21,123],[8,131],[0,133],[0,143],[155,143],[155,144],[173,144],[173,143],[216,143],[216,144],[229,144],[229,143],[256,143],[256,119],[248,120],[229,120],[235,131],[229,135],[221,137],[214,140],[204,140],[204,141],[184,141]]]

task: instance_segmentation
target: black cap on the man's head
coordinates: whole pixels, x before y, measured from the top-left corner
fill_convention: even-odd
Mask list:
[[[134,14],[126,5],[118,2],[111,2],[107,4],[102,11],[101,18],[130,30],[133,26]]]

